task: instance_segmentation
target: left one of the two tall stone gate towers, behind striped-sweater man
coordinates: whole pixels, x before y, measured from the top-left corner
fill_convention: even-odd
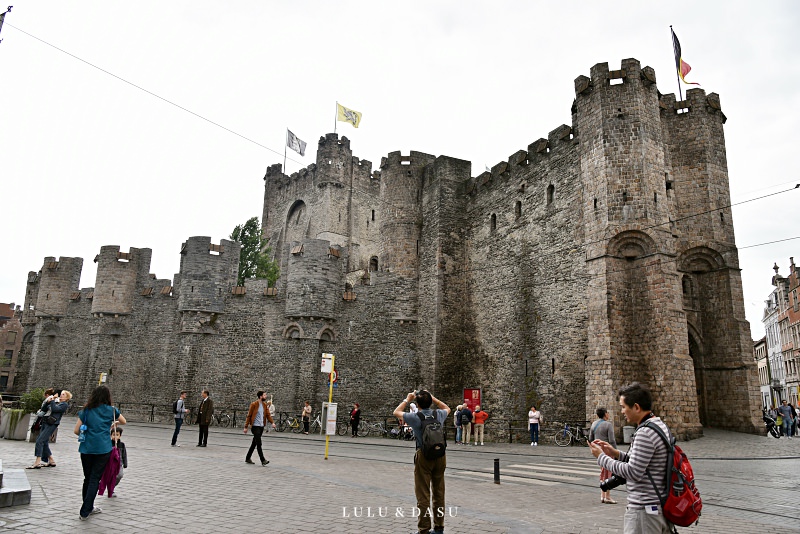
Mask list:
[[[590,276],[587,398],[613,406],[619,386],[647,383],[670,428],[697,436],[655,73],[635,59],[617,71],[601,63],[575,89]]]

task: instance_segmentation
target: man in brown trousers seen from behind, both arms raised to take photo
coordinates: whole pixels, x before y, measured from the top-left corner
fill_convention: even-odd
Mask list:
[[[408,405],[416,400],[419,406],[417,413],[407,413]],[[433,406],[433,408],[432,408]],[[414,493],[417,496],[419,518],[417,520],[418,534],[431,532],[431,519],[433,519],[434,533],[444,532],[444,470],[447,467],[447,457],[444,447],[432,450],[426,443],[428,450],[423,448],[423,434],[438,435],[444,431],[444,422],[450,414],[450,408],[426,390],[416,394],[411,392],[394,410],[394,416],[403,418],[408,426],[414,430],[417,440],[417,451],[414,454]],[[435,423],[438,423],[437,430]],[[426,429],[426,427],[428,427]],[[446,445],[442,443],[442,445]],[[428,453],[426,455],[426,452]],[[431,494],[433,505],[431,506]]]

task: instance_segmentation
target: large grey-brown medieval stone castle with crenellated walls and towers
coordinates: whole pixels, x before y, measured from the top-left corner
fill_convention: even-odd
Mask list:
[[[459,403],[481,388],[496,419],[532,404],[593,420],[616,390],[650,385],[681,437],[755,432],[758,377],[734,241],[718,95],[662,95],[652,68],[600,63],[575,80],[572,125],[471,176],[468,161],[391,152],[378,170],[346,137],[264,177],[262,228],[281,278],[236,286],[239,244],[191,237],[174,280],[150,249],[104,246],[94,288],[81,258],[28,277],[17,387],[169,404],[208,388],[217,406],[257,389],[279,411],[335,400],[388,415],[425,386]]]

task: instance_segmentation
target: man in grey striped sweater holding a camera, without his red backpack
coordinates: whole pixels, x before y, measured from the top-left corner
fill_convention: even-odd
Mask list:
[[[669,534],[671,525],[664,517],[660,498],[667,494],[669,450],[653,427],[666,436],[670,435],[669,428],[651,411],[653,401],[647,386],[633,382],[620,388],[619,405],[625,419],[637,426],[628,452],[601,440],[591,442],[589,447],[597,465],[614,474],[607,481],[608,490],[627,483],[624,534]],[[601,488],[606,490],[602,485]]]

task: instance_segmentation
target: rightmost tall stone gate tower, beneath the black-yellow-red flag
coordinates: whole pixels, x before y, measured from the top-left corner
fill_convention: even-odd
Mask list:
[[[760,394],[731,218],[726,118],[717,94],[690,89],[682,102],[661,98],[661,119],[700,422],[753,432]],[[745,415],[727,417],[732,406]]]

